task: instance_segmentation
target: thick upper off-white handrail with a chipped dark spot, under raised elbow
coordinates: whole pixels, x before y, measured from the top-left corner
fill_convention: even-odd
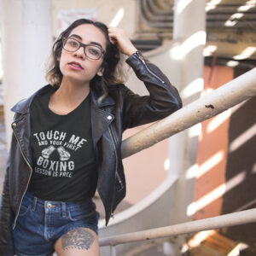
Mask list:
[[[125,139],[122,142],[122,157],[149,148],[253,96],[256,96],[256,67]]]

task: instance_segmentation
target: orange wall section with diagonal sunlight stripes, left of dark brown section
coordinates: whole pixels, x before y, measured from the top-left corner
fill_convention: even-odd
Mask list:
[[[205,67],[203,94],[216,90],[233,77],[233,69],[230,67]],[[225,167],[229,121],[230,110],[227,110],[201,123],[197,155],[198,171],[195,175],[195,219],[218,216],[221,212],[222,195],[226,189]]]

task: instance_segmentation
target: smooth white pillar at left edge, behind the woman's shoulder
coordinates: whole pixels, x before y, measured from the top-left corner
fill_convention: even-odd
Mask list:
[[[42,87],[52,44],[50,0],[0,0],[3,106],[9,148],[15,102]]]

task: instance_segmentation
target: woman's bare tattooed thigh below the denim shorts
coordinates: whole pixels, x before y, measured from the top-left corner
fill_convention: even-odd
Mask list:
[[[55,242],[55,252],[58,256],[99,256],[98,237],[88,228],[70,230]]]

